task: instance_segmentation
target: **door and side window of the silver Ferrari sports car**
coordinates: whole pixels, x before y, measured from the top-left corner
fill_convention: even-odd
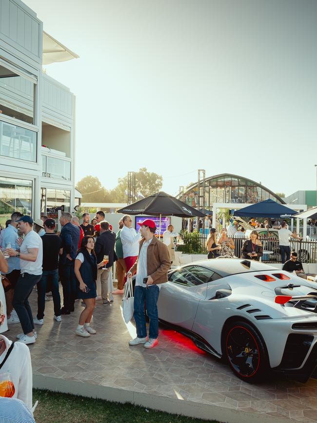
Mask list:
[[[198,303],[207,296],[207,282],[213,271],[202,266],[186,266],[169,275],[158,297],[158,317],[191,330]]]

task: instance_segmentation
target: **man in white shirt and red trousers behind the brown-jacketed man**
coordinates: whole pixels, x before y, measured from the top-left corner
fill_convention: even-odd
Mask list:
[[[126,268],[131,269],[138,258],[141,234],[139,232],[137,233],[137,231],[132,227],[131,216],[123,216],[122,222],[123,228],[121,229],[120,238],[122,242],[123,259]]]

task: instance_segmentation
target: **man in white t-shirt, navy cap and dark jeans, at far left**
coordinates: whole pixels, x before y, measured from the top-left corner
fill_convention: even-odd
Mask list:
[[[34,285],[42,277],[43,244],[42,240],[33,230],[31,216],[23,216],[17,221],[17,226],[24,240],[20,243],[20,251],[8,248],[10,257],[20,258],[21,276],[18,279],[13,296],[13,306],[20,319],[23,334],[18,335],[20,342],[34,343],[37,333],[34,331],[32,310],[28,298]]]

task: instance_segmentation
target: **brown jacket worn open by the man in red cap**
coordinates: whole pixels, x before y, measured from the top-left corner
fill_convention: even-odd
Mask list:
[[[144,238],[140,241],[139,254],[144,242]],[[163,242],[153,237],[152,242],[147,247],[147,274],[151,276],[155,285],[167,282],[167,272],[171,267],[170,255],[167,246]],[[137,271],[138,260],[131,267],[130,272],[134,275]]]

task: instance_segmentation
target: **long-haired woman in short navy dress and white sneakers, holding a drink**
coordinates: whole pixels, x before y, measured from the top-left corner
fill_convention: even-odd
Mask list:
[[[96,304],[96,279],[97,269],[103,262],[97,264],[94,251],[94,238],[86,236],[82,239],[77,257],[75,259],[75,276],[77,281],[77,295],[85,303],[85,308],[80,314],[76,334],[88,337],[95,334],[96,330],[90,326],[91,317]]]

